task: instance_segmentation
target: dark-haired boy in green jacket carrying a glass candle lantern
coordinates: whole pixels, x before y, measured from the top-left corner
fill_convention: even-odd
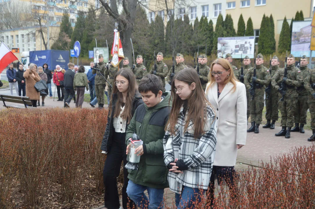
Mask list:
[[[144,104],[136,109],[130,121],[126,144],[136,133],[143,145],[135,150],[141,156],[138,170],[128,170],[127,194],[139,208],[163,208],[164,188],[169,187],[168,169],[163,160],[163,137],[172,104],[169,103],[170,95],[163,95],[162,80],[156,75],[143,77],[138,89]],[[148,191],[149,200],[144,194],[145,190]]]

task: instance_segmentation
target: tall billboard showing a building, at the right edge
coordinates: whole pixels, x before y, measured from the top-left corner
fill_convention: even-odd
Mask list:
[[[291,37],[291,54],[295,57],[310,57],[312,21],[293,21]],[[312,57],[315,52],[312,52]]]

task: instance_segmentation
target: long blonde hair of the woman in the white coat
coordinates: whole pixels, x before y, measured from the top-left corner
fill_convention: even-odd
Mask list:
[[[230,75],[226,77],[225,81],[223,82],[223,84],[227,84],[228,82],[231,82],[233,84],[233,92],[236,90],[236,82],[238,81],[236,78],[235,78],[235,75],[234,75],[234,72],[233,72],[233,69],[231,67],[231,64],[229,61],[227,61],[226,59],[223,59],[223,58],[219,58],[219,59],[216,59],[215,61],[213,61],[213,63],[211,64],[211,68],[210,68],[210,72],[208,74],[208,84],[207,84],[207,89],[206,89],[206,92],[208,92],[208,89],[210,88],[210,86],[212,84],[215,83],[215,77],[211,74],[212,70],[213,70],[213,66],[215,64],[219,64],[221,65],[225,70],[230,70]]]

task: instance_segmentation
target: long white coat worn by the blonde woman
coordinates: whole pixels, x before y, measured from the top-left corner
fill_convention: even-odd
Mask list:
[[[207,84],[208,87],[209,84]],[[227,83],[218,98],[218,84],[213,83],[206,97],[216,112],[217,144],[215,166],[235,166],[237,144],[246,144],[247,134],[247,99],[246,88],[241,82]]]

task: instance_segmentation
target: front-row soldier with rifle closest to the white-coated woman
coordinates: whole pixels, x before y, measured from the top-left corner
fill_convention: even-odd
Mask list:
[[[264,109],[264,95],[265,88],[264,85],[268,85],[271,76],[269,70],[263,65],[264,57],[258,54],[256,57],[256,76],[254,77],[254,68],[251,68],[244,78],[244,84],[246,89],[249,90],[251,96],[254,95],[254,99],[250,100],[250,120],[252,126],[247,130],[247,132],[259,133],[259,125],[262,120],[262,110]],[[255,81],[256,86],[253,90],[251,84]]]

